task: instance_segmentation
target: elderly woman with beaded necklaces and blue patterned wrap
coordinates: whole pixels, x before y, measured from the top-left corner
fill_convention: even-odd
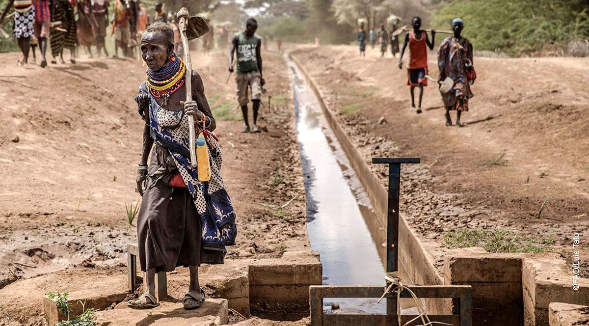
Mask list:
[[[186,71],[184,62],[174,54],[170,25],[158,22],[147,28],[141,38],[141,56],[148,70],[135,98],[145,121],[137,173],[137,188],[143,196],[137,236],[145,291],[128,305],[157,307],[155,273],[188,266],[190,288],[182,302],[186,309],[198,308],[204,302],[198,266],[223,264],[225,246],[233,245],[237,234],[235,213],[220,174],[221,151],[213,133],[216,123],[200,75]],[[192,78],[191,90],[186,90],[185,78]],[[186,91],[192,92],[194,101],[183,102]],[[190,164],[188,115],[196,121],[197,134],[203,132],[206,139],[209,182],[200,182],[197,169]]]

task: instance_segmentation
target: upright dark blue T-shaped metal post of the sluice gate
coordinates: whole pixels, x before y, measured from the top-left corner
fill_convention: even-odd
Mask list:
[[[388,208],[386,210],[386,274],[399,271],[399,192],[401,190],[401,164],[418,164],[421,163],[419,158],[406,159],[372,159],[375,164],[389,164],[389,198]],[[389,284],[386,284],[388,287]],[[396,315],[401,312],[397,311],[396,298],[388,296],[386,298],[386,314]],[[387,322],[389,324],[389,322]]]

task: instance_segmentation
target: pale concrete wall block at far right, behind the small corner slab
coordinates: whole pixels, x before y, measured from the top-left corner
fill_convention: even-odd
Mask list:
[[[522,288],[526,326],[548,325],[548,306],[552,302],[580,305],[589,302],[589,279],[577,279],[578,288],[573,289],[571,269],[554,253],[524,258]]]

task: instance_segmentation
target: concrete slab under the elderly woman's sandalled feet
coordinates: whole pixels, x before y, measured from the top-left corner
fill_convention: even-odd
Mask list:
[[[96,313],[96,326],[217,326],[227,324],[227,300],[207,299],[198,309],[186,310],[180,302],[161,302],[154,309],[111,309]]]

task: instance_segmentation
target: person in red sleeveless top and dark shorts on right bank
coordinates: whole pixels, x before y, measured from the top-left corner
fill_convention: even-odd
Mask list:
[[[419,104],[417,113],[421,113],[421,98],[423,97],[423,86],[428,85],[425,75],[428,74],[428,50],[434,50],[434,40],[436,32],[432,29],[432,41],[429,42],[428,34],[421,31],[421,18],[413,17],[411,19],[413,31],[405,36],[405,44],[399,57],[399,69],[403,69],[403,54],[409,44],[409,67],[407,69],[407,84],[411,86],[411,110],[415,110],[415,95],[413,89],[419,87]]]

